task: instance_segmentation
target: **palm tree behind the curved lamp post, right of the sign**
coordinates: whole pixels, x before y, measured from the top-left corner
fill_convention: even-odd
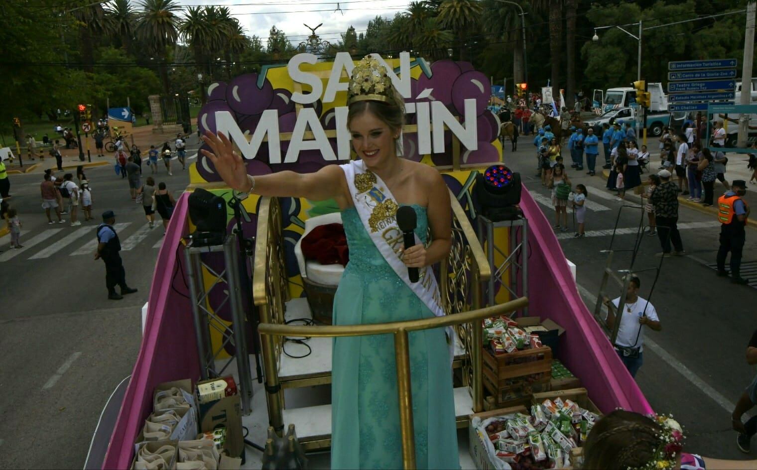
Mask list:
[[[512,5],[488,0],[484,2],[486,12],[481,21],[484,31],[504,42],[503,48],[512,48],[512,75],[516,83],[525,82],[525,61],[523,58],[523,35],[518,10]]]

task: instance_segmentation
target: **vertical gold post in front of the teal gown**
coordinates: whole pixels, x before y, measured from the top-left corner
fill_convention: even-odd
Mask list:
[[[416,468],[416,433],[413,427],[413,393],[410,381],[410,344],[407,330],[394,333],[394,358],[397,362],[397,395],[400,402],[402,463],[406,469]]]

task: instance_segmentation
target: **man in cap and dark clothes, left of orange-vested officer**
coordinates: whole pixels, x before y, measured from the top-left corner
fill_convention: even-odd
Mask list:
[[[657,176],[660,177],[660,185],[650,195],[650,202],[655,209],[657,235],[662,244],[662,253],[656,256],[670,257],[671,242],[675,250],[674,254],[683,256],[686,251],[684,251],[681,233],[678,232],[678,186],[671,182],[671,174],[668,170],[660,170]]]

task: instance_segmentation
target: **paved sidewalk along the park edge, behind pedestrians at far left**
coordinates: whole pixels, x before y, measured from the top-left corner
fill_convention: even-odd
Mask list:
[[[192,129],[197,131],[197,119],[192,119]],[[173,148],[173,141],[176,140],[176,134],[182,132],[181,126],[163,126],[163,132],[154,131],[152,126],[139,126],[133,128],[133,132],[126,136],[126,142],[129,144],[129,148],[132,146],[132,142],[139,147],[142,151],[142,157],[147,157],[147,152],[150,149],[150,145],[154,145],[156,148],[163,146],[164,142],[170,142],[171,148]],[[183,133],[183,132],[182,132]],[[63,142],[63,139],[59,139]],[[98,157],[97,151],[95,151],[95,141],[92,137],[89,138],[89,154],[90,162],[87,159],[87,145],[84,135],[82,135],[82,146],[84,148],[84,161],[79,160],[78,148],[65,148],[65,144],[61,145],[61,155],[63,155],[63,167],[64,169],[75,169],[79,165],[83,167],[98,167],[101,165],[114,164],[114,154],[104,151],[104,157]],[[19,164],[19,159],[16,158],[13,163],[9,163],[5,160],[5,167],[8,168],[8,174],[19,173],[44,173],[48,168],[56,168],[55,158],[50,157],[48,154],[48,147],[42,147],[42,142],[37,142],[37,155],[34,156],[34,160],[30,160],[27,156],[26,147],[21,147],[23,154],[21,155],[23,160],[23,167]],[[15,148],[14,148],[15,151]],[[44,158],[40,158],[40,153]],[[16,155],[18,157],[18,155]]]

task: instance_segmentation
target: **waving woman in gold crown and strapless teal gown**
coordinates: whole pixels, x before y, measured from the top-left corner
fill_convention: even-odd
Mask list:
[[[359,77],[357,81],[355,77]],[[447,185],[432,167],[397,157],[403,98],[385,69],[360,61],[349,85],[347,127],[365,170],[381,179],[397,204],[416,211],[416,234],[431,243],[403,251],[407,267],[444,260],[451,246]],[[282,171],[249,176],[226,135],[207,132],[202,153],[230,188],[272,197],[333,198],[350,249],[334,300],[335,325],[431,318],[434,313],[391,268],[354,207],[344,171],[329,165],[316,173]],[[394,219],[394,214],[390,214]],[[377,241],[378,243],[378,241]],[[452,369],[444,329],[410,332],[413,424],[418,468],[459,468]],[[397,375],[392,335],[338,338],[332,358],[332,468],[402,468]]]

